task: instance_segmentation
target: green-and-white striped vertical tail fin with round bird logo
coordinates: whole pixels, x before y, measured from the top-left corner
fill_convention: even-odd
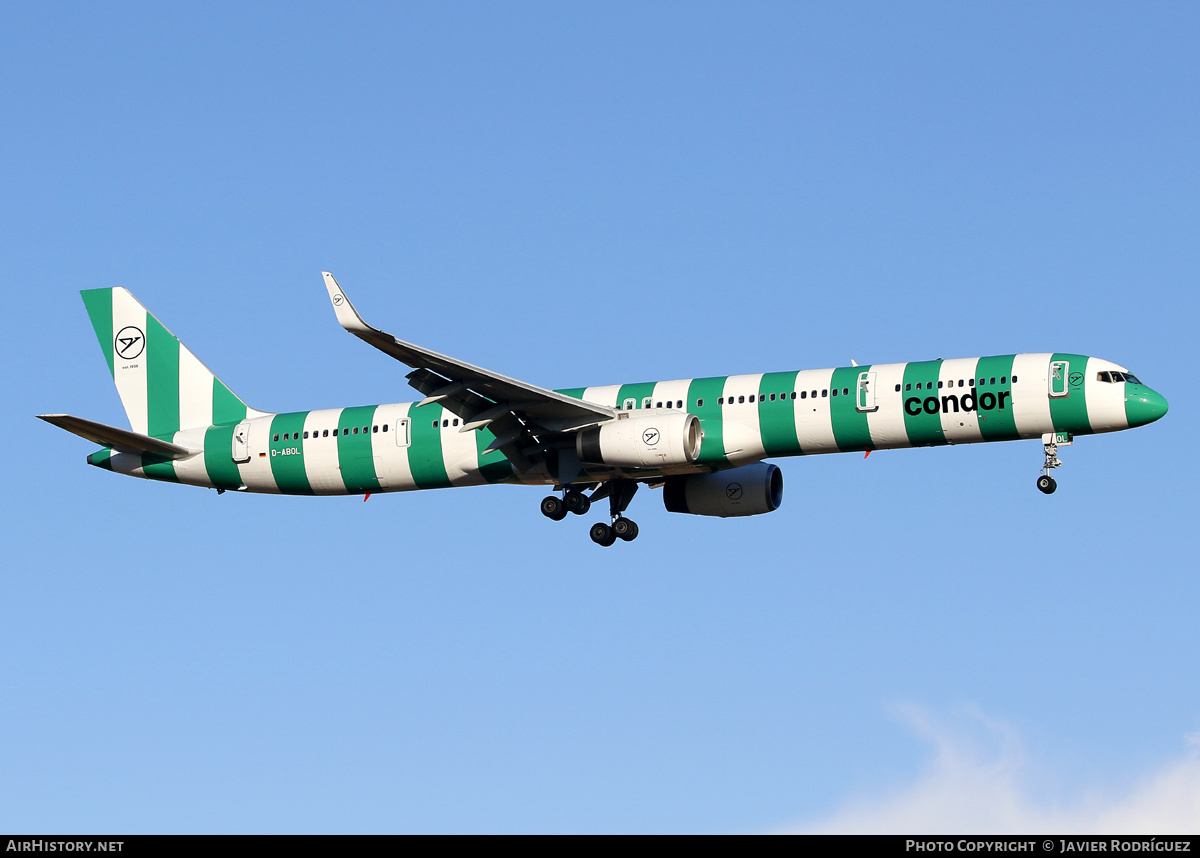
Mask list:
[[[130,426],[169,437],[260,414],[212,374],[128,289],[82,293]]]

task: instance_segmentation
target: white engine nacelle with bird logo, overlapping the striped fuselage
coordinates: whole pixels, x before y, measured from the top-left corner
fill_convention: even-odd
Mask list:
[[[703,439],[700,418],[664,409],[586,428],[575,438],[575,451],[592,464],[662,468],[695,462]]]

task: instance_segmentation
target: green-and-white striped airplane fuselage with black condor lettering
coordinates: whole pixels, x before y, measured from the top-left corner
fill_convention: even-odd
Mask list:
[[[1166,401],[1110,361],[1018,354],[720,376],[559,391],[622,412],[695,414],[700,456],[670,469],[583,466],[576,482],[706,473],[763,458],[1115,432],[1157,420]],[[485,427],[461,431],[437,403],[256,416],[162,437],[194,456],[114,452],[114,472],[220,490],[361,494],[491,482],[554,485],[551,463],[518,473]]]

